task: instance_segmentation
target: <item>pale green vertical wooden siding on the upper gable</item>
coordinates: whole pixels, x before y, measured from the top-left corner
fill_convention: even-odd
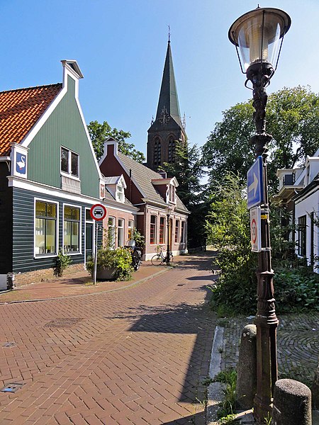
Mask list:
[[[28,179],[61,187],[61,146],[79,154],[81,193],[99,198],[99,174],[75,100],[75,81],[68,77],[68,90],[38,134],[30,142]]]

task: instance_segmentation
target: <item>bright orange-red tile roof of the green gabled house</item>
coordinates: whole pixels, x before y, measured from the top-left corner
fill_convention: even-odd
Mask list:
[[[23,140],[61,89],[59,83],[0,92],[0,156]]]

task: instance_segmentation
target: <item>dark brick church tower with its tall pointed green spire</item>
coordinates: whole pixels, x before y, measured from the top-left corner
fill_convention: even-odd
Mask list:
[[[171,43],[168,41],[156,118],[148,129],[147,166],[156,171],[164,162],[174,163],[177,141],[185,143],[186,132],[179,112]]]

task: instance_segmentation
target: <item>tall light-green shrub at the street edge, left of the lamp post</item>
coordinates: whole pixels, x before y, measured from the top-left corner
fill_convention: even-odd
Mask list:
[[[225,311],[252,312],[257,287],[257,256],[250,246],[250,217],[240,179],[225,176],[213,193],[206,220],[208,243],[218,250],[214,265],[220,278],[211,286],[211,305]]]

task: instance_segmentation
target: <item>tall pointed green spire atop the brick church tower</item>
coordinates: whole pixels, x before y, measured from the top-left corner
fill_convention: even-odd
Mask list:
[[[174,67],[172,59],[171,42],[168,40],[167,53],[164,64],[161,90],[159,92],[159,101],[155,120],[162,121],[173,118],[176,123],[181,125],[181,113],[179,112],[179,98],[177,96],[177,87],[174,76]]]

